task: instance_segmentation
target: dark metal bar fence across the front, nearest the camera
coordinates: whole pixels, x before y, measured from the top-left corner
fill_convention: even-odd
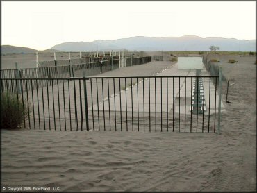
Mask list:
[[[219,76],[1,78],[25,128],[216,133]],[[33,89],[31,89],[33,88]]]

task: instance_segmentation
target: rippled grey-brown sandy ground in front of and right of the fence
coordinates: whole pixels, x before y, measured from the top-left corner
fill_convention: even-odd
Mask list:
[[[3,187],[6,190],[50,187],[62,192],[256,190],[256,58],[240,57],[236,64],[230,65],[225,56],[219,57],[224,76],[235,83],[229,87],[231,103],[225,103],[226,83],[223,83],[226,111],[222,112],[221,135],[2,130],[1,190]],[[160,72],[158,67],[135,68],[136,71],[126,67],[126,73]],[[112,76],[115,71],[101,76]]]

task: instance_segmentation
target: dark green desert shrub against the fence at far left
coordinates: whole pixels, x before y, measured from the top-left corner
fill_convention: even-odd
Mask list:
[[[20,127],[24,117],[28,116],[28,108],[23,105],[21,97],[10,92],[1,93],[1,128]]]

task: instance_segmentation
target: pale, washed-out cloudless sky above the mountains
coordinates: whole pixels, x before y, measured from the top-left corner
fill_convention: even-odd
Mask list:
[[[1,1],[1,44],[183,35],[256,39],[256,1]]]

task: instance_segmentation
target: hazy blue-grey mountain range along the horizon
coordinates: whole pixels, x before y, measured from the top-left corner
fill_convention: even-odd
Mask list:
[[[256,40],[237,40],[222,37],[144,37],[136,36],[117,40],[95,40],[93,42],[65,42],[51,49],[53,51],[210,51],[210,46],[217,46],[219,51],[256,51]],[[1,53],[35,53],[37,50],[10,45],[1,46]]]

